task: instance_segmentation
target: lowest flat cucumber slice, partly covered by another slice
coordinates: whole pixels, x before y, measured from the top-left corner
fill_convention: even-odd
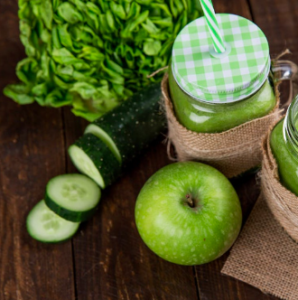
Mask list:
[[[59,217],[45,204],[38,202],[27,217],[27,231],[32,238],[44,243],[59,243],[71,238],[80,223],[74,223]]]

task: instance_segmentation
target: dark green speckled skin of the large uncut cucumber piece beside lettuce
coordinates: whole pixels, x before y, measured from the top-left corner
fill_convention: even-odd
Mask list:
[[[161,96],[160,83],[152,84],[92,123],[114,141],[124,167],[166,129],[166,117],[160,109]]]

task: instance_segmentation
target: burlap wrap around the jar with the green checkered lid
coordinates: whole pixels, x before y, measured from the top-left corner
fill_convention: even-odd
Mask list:
[[[197,133],[182,126],[169,96],[167,73],[161,87],[168,120],[168,139],[175,146],[179,161],[207,162],[229,178],[261,165],[262,139],[280,117],[278,84],[275,87],[277,104],[270,114],[221,133]]]

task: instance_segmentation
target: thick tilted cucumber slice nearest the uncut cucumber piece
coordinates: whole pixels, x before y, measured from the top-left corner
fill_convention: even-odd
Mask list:
[[[121,166],[106,144],[88,133],[70,146],[68,153],[77,169],[92,178],[101,188],[112,184],[121,173]]]

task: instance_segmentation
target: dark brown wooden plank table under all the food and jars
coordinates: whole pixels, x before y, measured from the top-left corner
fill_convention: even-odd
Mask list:
[[[214,0],[217,12],[256,22],[269,39],[272,57],[285,48],[298,62],[296,0]],[[16,81],[24,57],[17,1],[0,0],[0,89]],[[0,299],[1,300],[265,300],[257,289],[220,274],[228,257],[197,267],[170,264],[141,241],[134,204],[145,181],[170,163],[163,143],[135,161],[126,176],[103,193],[96,215],[59,245],[31,239],[25,218],[43,198],[47,181],[75,171],[66,153],[86,125],[69,109],[18,106],[0,95]],[[257,199],[253,175],[234,185],[245,218]]]

